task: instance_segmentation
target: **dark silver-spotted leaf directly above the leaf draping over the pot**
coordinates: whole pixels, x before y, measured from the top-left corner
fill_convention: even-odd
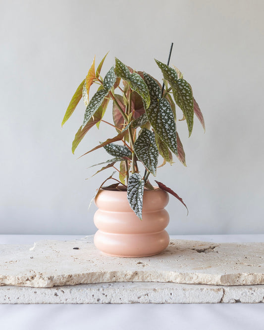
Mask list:
[[[158,147],[155,142],[154,133],[147,128],[143,128],[134,144],[134,150],[137,158],[154,176],[156,176]]]

